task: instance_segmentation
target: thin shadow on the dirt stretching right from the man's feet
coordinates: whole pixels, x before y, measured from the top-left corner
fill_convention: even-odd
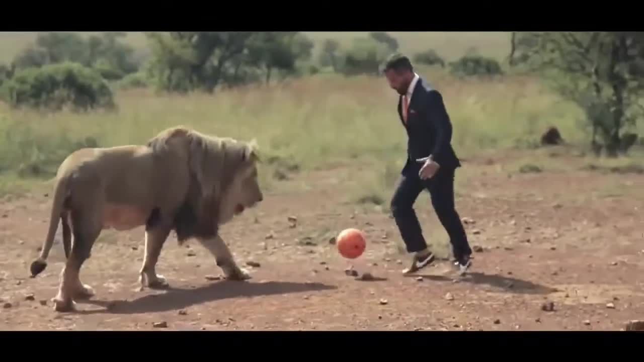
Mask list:
[[[547,287],[546,285],[541,285],[533,283],[532,281],[521,280],[517,278],[510,278],[507,276],[501,276],[498,274],[485,274],[482,272],[468,272],[464,276],[457,276],[456,278],[450,278],[443,275],[433,275],[433,274],[415,274],[414,276],[422,276],[428,280],[433,281],[460,281],[473,284],[484,284],[489,285],[490,287],[495,287],[502,289],[509,293],[519,293],[519,294],[550,294],[553,292],[558,292],[558,289]]]

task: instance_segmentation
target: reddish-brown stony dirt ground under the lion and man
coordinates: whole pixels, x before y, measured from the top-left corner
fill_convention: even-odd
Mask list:
[[[644,177],[583,171],[574,159],[569,171],[509,173],[506,162],[468,160],[457,173],[457,209],[471,245],[482,249],[463,278],[447,260],[403,276],[409,258],[399,251],[393,220],[374,205],[346,202],[343,186],[359,171],[345,167],[292,175],[280,187],[290,183],[291,191],[265,195],[223,228],[238,263],[252,273],[249,281],[217,280],[221,271],[205,249],[194,242],[178,247],[171,238],[157,267],[170,288],[139,291],[143,229],[102,234],[81,271],[96,295],[72,313],[54,312],[50,301],[64,260],[59,241],[47,269],[29,278],[50,195],[5,202],[0,329],[620,330],[644,319],[637,193]],[[428,195],[417,210],[429,241],[444,243]],[[365,254],[352,262],[330,242],[346,227],[368,237]],[[350,265],[375,280],[347,276]],[[542,309],[551,302],[554,310]]]

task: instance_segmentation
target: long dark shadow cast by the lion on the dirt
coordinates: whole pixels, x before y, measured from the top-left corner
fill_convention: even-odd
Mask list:
[[[179,310],[201,303],[227,298],[269,296],[310,291],[337,289],[336,286],[323,283],[294,283],[289,281],[268,281],[253,283],[251,281],[217,281],[203,287],[184,289],[169,288],[161,294],[148,294],[131,301],[86,300],[84,303],[99,305],[106,309],[86,310],[83,314],[141,314]]]

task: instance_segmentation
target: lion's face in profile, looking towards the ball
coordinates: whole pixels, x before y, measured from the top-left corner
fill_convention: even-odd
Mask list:
[[[224,220],[220,220],[220,222],[227,222],[232,216],[254,207],[263,200],[263,197],[257,166],[254,161],[248,162],[236,172],[230,187],[223,195],[220,216],[223,216]]]

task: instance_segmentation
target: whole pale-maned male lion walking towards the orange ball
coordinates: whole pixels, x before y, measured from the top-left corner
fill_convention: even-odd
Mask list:
[[[196,238],[213,254],[225,278],[247,280],[218,234],[220,225],[263,200],[258,184],[257,145],[207,136],[177,126],[147,145],[79,149],[55,176],[49,230],[32,278],[42,272],[59,221],[66,264],[54,310],[75,310],[75,301],[94,295],[79,278],[82,263],[104,229],[126,231],[145,225],[141,289],[165,288],[155,266],[171,231],[178,242]],[[73,235],[73,244],[71,236]]]

